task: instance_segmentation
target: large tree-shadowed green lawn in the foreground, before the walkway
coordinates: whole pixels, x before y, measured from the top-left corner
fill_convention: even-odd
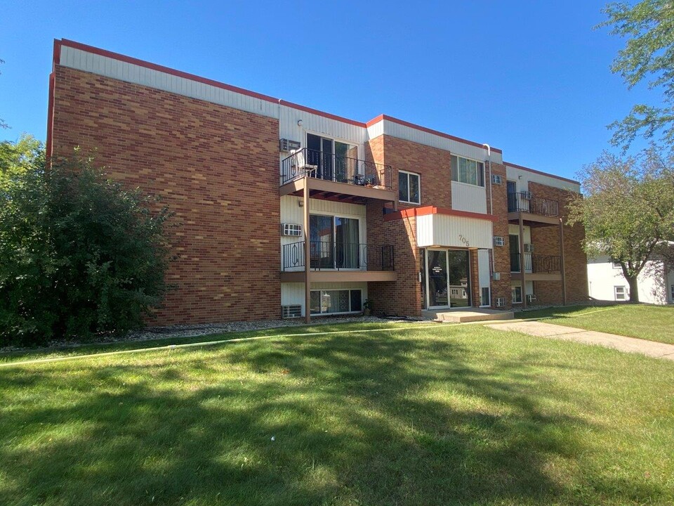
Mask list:
[[[0,368],[0,504],[674,501],[674,363],[373,328]]]

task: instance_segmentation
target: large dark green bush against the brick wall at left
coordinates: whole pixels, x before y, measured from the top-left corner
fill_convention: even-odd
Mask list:
[[[0,345],[143,325],[161,304],[169,211],[74,157],[0,186]]]

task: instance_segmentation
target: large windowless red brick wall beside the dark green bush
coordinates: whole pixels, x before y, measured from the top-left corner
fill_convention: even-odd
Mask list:
[[[96,164],[176,212],[166,307],[151,323],[278,318],[278,121],[57,66],[53,153]]]

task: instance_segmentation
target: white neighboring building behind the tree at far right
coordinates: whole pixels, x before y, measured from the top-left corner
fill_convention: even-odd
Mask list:
[[[639,301],[674,304],[674,271],[666,272],[662,261],[648,261],[638,277]],[[619,264],[609,257],[588,259],[590,298],[606,301],[630,300],[630,285]]]

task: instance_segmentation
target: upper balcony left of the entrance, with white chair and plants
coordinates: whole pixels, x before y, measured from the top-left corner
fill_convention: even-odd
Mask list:
[[[396,201],[392,167],[303,148],[281,162],[281,195],[301,195],[305,176],[310,198],[364,204]]]

